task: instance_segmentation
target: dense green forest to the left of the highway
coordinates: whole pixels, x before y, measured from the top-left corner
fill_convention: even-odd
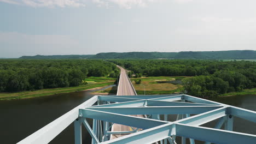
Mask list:
[[[102,60],[1,59],[0,92],[79,86],[85,77],[112,73],[118,73],[115,64]]]

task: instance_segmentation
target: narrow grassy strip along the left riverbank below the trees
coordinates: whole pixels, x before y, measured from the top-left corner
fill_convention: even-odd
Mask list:
[[[108,78],[108,77],[89,77],[88,79],[94,80],[95,82],[89,83],[88,85],[81,85],[78,87],[50,88],[50,89],[40,89],[37,91],[0,93],[0,100],[25,99],[25,98],[42,97],[42,96],[53,95],[58,93],[84,91],[86,89],[113,85],[115,81],[115,79]],[[97,81],[97,80],[100,80],[100,81]]]

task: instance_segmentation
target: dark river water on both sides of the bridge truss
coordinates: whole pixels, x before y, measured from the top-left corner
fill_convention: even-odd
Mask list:
[[[98,91],[98,90],[97,90]],[[56,94],[32,99],[0,101],[0,143],[16,143],[34,133],[54,119],[93,97],[92,91]],[[256,111],[256,96],[241,95],[214,99],[220,103]],[[91,121],[89,121],[91,123]],[[206,124],[211,127],[212,124]],[[240,118],[234,119],[234,131],[256,135],[256,124]],[[83,128],[85,129],[85,128]],[[86,130],[83,142],[90,143]],[[74,127],[69,125],[50,143],[74,143]]]

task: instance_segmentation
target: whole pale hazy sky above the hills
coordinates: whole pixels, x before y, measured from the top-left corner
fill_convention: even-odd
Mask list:
[[[0,58],[256,50],[255,0],[0,0]]]

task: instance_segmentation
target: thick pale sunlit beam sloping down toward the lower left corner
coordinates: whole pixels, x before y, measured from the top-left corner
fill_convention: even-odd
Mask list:
[[[67,112],[65,115],[55,119],[55,121],[45,125],[43,128],[39,129],[35,133],[26,137],[24,140],[20,141],[19,144],[26,143],[49,143],[57,135],[61,133],[69,124],[73,123],[75,119],[78,118],[79,109],[84,109],[84,107],[91,106],[98,100],[97,96],[90,98],[83,104],[75,107],[73,110]]]

